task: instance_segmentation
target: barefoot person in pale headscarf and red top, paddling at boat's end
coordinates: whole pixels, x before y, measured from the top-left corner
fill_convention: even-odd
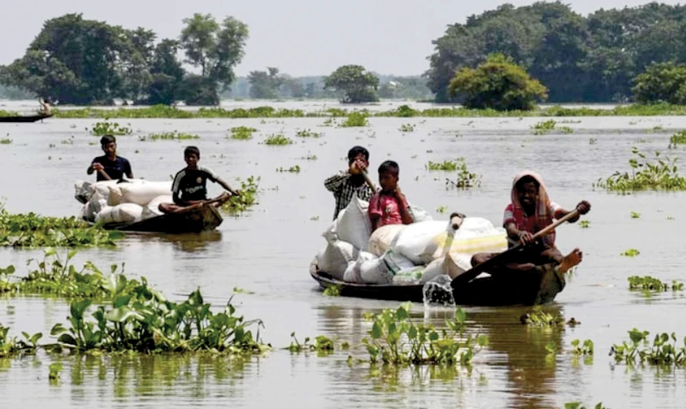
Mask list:
[[[554,219],[561,219],[570,211],[551,201],[545,190],[543,179],[533,171],[523,171],[514,177],[512,182],[512,203],[505,209],[503,226],[508,232],[509,247],[517,243],[525,246],[516,251],[508,264],[497,271],[525,271],[539,266],[558,267],[558,273],[565,273],[582,261],[582,252],[573,249],[563,256],[555,246],[555,232],[534,240],[534,234],[552,225]],[[591,210],[591,203],[580,201],[576,206],[580,214]],[[569,219],[569,223],[578,221],[579,216]],[[472,258],[476,266],[496,256],[496,253],[477,253]],[[489,271],[490,272],[490,271]]]

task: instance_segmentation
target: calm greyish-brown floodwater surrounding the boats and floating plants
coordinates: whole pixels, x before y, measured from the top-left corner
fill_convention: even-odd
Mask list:
[[[298,106],[298,103],[290,103]],[[306,104],[306,103],[303,103]],[[2,109],[2,108],[0,108]],[[386,109],[386,108],[384,108]],[[134,135],[121,136],[119,153],[132,162],[134,175],[168,179],[185,166],[185,142],[139,141],[150,132],[178,130],[199,134],[193,141],[202,152],[201,164],[228,180],[261,177],[259,206],[240,217],[226,217],[217,232],[202,236],[129,236],[117,249],[80,251],[76,262],[93,260],[105,268],[126,262],[126,273],[145,275],[171,297],[200,287],[217,307],[235,287],[252,291],[234,301],[246,318],[261,318],[263,340],[274,346],[267,356],[243,364],[226,358],[134,356],[119,358],[61,358],[62,380],[48,382],[48,366],[58,358],[0,360],[2,408],[95,406],[246,407],[297,404],[303,408],[555,408],[568,401],[587,406],[602,401],[608,408],[683,408],[686,373],[652,367],[613,367],[608,351],[628,339],[633,327],[686,335],[686,303],[681,293],[644,297],[628,290],[630,275],[653,275],[663,281],[684,280],[685,256],[679,237],[686,234],[683,193],[640,193],[618,196],[594,192],[592,184],[615,170],[626,170],[632,147],[667,152],[670,134],[686,128],[683,117],[556,118],[573,134],[532,136],[530,126],[541,119],[422,119],[372,118],[364,128],[322,127],[323,119],[244,120],[123,120]],[[10,212],[56,216],[76,214],[73,183],[86,176],[91,159],[99,156],[98,138],[84,130],[95,120],[49,119],[34,124],[0,124],[4,174],[0,195]],[[403,123],[414,132],[401,133]],[[248,141],[227,139],[239,125],[259,130]],[[658,127],[658,128],[656,128]],[[298,138],[299,129],[323,132],[321,138]],[[294,145],[270,147],[261,142],[283,132]],[[594,140],[593,143],[591,139]],[[581,199],[593,205],[590,226],[565,225],[558,231],[563,251],[580,247],[584,262],[549,310],[577,327],[549,332],[521,325],[525,308],[467,308],[471,330],[488,334],[490,344],[473,360],[471,371],[370,368],[346,363],[348,354],[366,358],[359,341],[370,324],[368,311],[397,303],[324,297],[309,277],[314,254],[324,247],[321,233],[329,225],[333,197],[323,179],[346,166],[346,151],[364,145],[371,168],[388,158],[401,166],[400,184],[410,202],[434,218],[447,218],[436,209],[482,216],[499,224],[509,200],[510,183],[522,169],[542,173],[554,201],[573,208]],[[683,161],[683,149],[672,150]],[[316,160],[304,157],[316,155]],[[463,156],[469,170],[482,175],[482,186],[469,191],[446,188],[449,173],[425,171],[429,161]],[[300,173],[276,168],[298,164]],[[216,185],[210,193],[219,193]],[[632,219],[630,212],[639,212]],[[635,258],[620,256],[639,249]],[[25,260],[40,251],[0,249],[0,266],[15,264],[25,272]],[[69,312],[62,300],[38,297],[0,299],[0,322],[12,334],[49,333]],[[424,310],[417,319],[440,323],[446,312]],[[346,340],[351,351],[290,354],[281,348],[289,335],[327,335]],[[571,340],[595,343],[593,362],[574,360]],[[651,338],[652,339],[652,338]],[[554,342],[558,354],[549,357],[545,345]]]

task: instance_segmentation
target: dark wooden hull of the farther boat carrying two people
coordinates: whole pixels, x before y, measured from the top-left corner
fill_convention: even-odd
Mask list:
[[[189,206],[177,212],[165,213],[136,223],[110,223],[103,227],[121,232],[200,233],[214,230],[224,221],[217,206],[221,206],[221,203]]]

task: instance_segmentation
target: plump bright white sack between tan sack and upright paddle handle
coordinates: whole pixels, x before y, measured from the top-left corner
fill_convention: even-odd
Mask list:
[[[426,264],[433,261],[433,258],[425,256],[425,249],[436,236],[445,232],[448,227],[447,221],[422,221],[406,225],[394,238],[390,248],[394,252],[409,258],[414,264]]]

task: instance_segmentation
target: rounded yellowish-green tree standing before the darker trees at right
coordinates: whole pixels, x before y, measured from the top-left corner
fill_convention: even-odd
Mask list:
[[[462,67],[448,87],[467,108],[531,110],[537,99],[547,97],[547,89],[512,58],[490,54],[476,69]]]

